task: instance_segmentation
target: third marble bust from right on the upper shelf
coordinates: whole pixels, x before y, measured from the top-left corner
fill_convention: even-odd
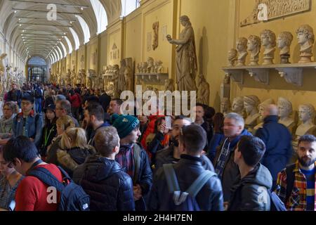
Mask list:
[[[263,52],[263,65],[273,64],[275,58],[275,46],[277,46],[277,37],[271,30],[263,30],[261,32],[261,44],[265,47]]]

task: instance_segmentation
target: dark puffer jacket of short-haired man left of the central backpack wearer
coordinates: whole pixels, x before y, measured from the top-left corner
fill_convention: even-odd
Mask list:
[[[133,181],[115,160],[93,155],[77,167],[73,179],[90,195],[92,211],[135,210]]]

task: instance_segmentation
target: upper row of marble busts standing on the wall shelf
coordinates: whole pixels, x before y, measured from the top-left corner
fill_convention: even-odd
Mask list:
[[[314,30],[310,25],[301,25],[296,30],[298,44],[301,46],[301,58],[298,63],[310,63],[312,61],[312,46],[315,42]],[[294,39],[291,32],[281,32],[278,37],[271,30],[263,30],[261,37],[250,35],[248,39],[240,37],[237,39],[236,49],[228,52],[228,65],[243,66],[246,62],[248,51],[250,53],[249,65],[258,65],[261,46],[264,48],[263,65],[273,64],[276,46],[280,49],[281,63],[289,63],[290,46]]]

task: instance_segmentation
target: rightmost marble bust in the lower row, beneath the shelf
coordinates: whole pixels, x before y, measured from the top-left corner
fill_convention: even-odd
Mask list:
[[[304,104],[298,107],[298,117],[301,120],[301,125],[299,125],[295,132],[295,139],[293,146],[297,147],[298,139],[305,134],[315,135],[316,126],[313,122],[315,117],[315,108],[311,104]]]

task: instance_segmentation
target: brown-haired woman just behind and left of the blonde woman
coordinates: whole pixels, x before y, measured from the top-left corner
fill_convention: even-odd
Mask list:
[[[51,146],[47,148],[47,158],[46,162],[53,163],[55,165],[58,164],[57,160],[57,150],[60,148],[60,140],[62,139],[62,134],[67,128],[75,127],[74,121],[72,117],[69,115],[63,115],[59,117],[56,121],[56,129],[57,129],[57,136],[53,139]]]

